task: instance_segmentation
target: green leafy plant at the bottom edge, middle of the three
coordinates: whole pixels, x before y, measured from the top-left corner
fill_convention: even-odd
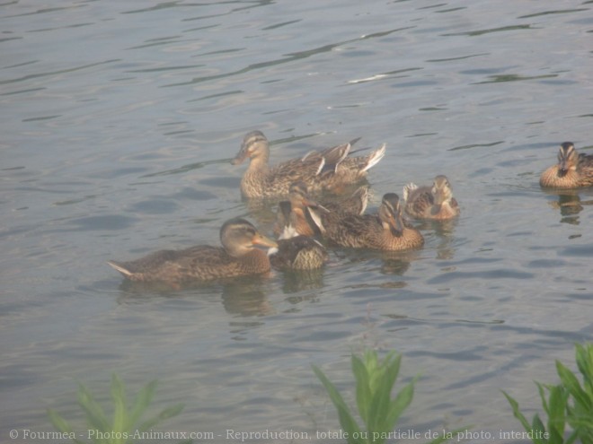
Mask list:
[[[397,436],[399,431],[394,429],[400,415],[412,403],[414,384],[418,379],[418,377],[412,379],[392,397],[402,355],[390,352],[387,353],[383,361],[379,361],[375,350],[367,350],[362,357],[352,354],[351,361],[352,373],[356,379],[358,416],[364,422],[366,429],[360,428],[356,418],[350,412],[349,406],[332,381],[325,376],[322,370],[313,366],[315,375],[321,380],[338,412],[341,438],[346,439],[349,444],[383,444],[385,440],[419,438],[419,436]],[[457,432],[442,433],[430,443],[436,444],[453,439]],[[419,432],[418,435],[420,435]]]

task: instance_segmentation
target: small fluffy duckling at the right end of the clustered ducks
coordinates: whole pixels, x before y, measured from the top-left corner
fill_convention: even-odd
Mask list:
[[[459,215],[459,205],[453,197],[447,176],[437,176],[432,187],[410,183],[403,187],[405,213],[418,219],[452,219]]]

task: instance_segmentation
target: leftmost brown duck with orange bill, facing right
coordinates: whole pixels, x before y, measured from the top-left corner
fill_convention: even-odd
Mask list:
[[[223,224],[220,242],[222,248],[199,245],[160,250],[137,260],[109,261],[108,264],[130,281],[179,285],[266,273],[270,271],[270,259],[265,251],[254,246],[278,247],[275,241],[262,236],[250,222],[241,218]]]

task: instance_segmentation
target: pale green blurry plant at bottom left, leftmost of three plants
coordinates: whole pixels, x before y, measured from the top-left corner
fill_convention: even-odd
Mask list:
[[[143,440],[162,435],[152,431],[152,428],[159,422],[172,418],[181,413],[182,404],[172,405],[165,408],[160,414],[140,422],[146,412],[148,405],[152,403],[155,395],[156,380],[146,384],[138,392],[133,405],[128,407],[126,388],[118,375],[111,375],[111,401],[113,403],[113,415],[110,419],[105,414],[102,406],[95,400],[91,391],[78,384],[78,404],[84,411],[86,418],[86,431],[76,433],[73,427],[62,416],[52,409],[48,409],[49,421],[53,426],[63,433],[63,436],[73,440],[75,443],[85,443],[78,437],[84,436],[97,444],[125,444],[133,440]],[[191,442],[182,441],[184,443]]]

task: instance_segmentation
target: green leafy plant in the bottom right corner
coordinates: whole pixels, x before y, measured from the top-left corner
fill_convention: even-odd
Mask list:
[[[535,444],[570,444],[577,440],[582,444],[593,444],[593,344],[576,344],[575,348],[582,386],[577,376],[560,361],[556,361],[559,384],[535,381],[547,415],[545,424],[539,414],[534,415],[530,424],[519,410],[518,402],[502,391],[514,416],[527,432],[527,438]]]

